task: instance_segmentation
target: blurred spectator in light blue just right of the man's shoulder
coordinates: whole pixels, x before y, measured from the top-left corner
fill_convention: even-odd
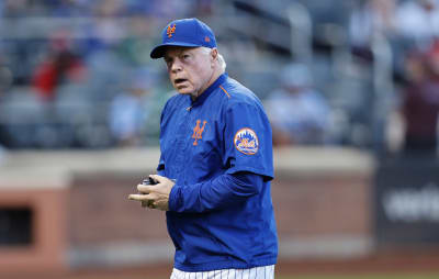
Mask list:
[[[282,88],[271,92],[264,103],[275,145],[327,142],[329,107],[312,82],[305,65],[291,64],[283,69]]]

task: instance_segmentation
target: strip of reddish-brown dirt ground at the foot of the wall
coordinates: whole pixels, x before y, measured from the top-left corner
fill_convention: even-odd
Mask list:
[[[10,279],[165,279],[172,264],[146,265],[133,268],[82,269],[53,275],[9,275]],[[363,275],[376,272],[416,274],[439,272],[438,253],[385,253],[356,259],[280,260],[277,277],[294,275]]]

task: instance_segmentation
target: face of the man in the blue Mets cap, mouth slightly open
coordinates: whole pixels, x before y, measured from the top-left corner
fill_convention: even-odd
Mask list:
[[[179,93],[196,98],[209,87],[214,64],[202,47],[169,46],[165,62],[169,79]]]

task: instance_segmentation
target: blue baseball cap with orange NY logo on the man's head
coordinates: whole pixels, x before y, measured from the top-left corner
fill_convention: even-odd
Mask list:
[[[172,21],[161,31],[161,45],[156,46],[150,52],[150,57],[153,59],[164,57],[167,46],[216,47],[216,40],[213,31],[198,19]]]

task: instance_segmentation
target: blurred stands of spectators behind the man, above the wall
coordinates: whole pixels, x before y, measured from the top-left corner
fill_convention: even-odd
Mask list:
[[[3,148],[156,145],[173,92],[149,51],[196,16],[275,145],[438,149],[439,0],[4,0],[0,16]]]

